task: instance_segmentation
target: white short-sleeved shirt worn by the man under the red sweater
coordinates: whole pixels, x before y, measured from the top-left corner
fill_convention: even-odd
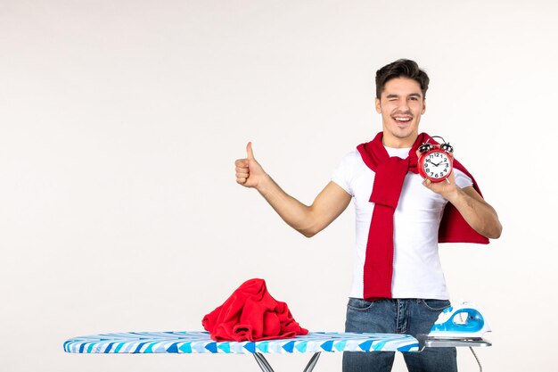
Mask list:
[[[386,147],[390,156],[406,159],[410,148]],[[454,169],[455,184],[472,186],[472,179]],[[374,203],[370,203],[375,173],[357,149],[348,153],[335,169],[332,181],[353,197],[357,240],[349,297],[363,298],[366,243]],[[393,298],[448,300],[446,279],[438,254],[438,229],[447,200],[423,186],[418,174],[406,174],[393,216]]]

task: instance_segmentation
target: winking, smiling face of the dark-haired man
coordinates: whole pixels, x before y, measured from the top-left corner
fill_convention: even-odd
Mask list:
[[[418,136],[418,125],[425,110],[423,92],[413,79],[390,79],[376,98],[376,111],[382,114],[383,145],[411,147]]]

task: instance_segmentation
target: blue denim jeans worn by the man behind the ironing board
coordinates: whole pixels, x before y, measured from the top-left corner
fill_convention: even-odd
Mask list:
[[[447,300],[389,299],[365,301],[349,298],[346,332],[389,334],[428,334],[439,313],[449,306]],[[409,372],[456,372],[455,348],[426,348],[404,352]],[[344,352],[343,372],[389,372],[395,352]]]

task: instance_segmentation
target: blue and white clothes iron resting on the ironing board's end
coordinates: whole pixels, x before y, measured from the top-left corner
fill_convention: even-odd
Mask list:
[[[480,308],[463,302],[443,310],[428,335],[419,335],[423,347],[490,346],[482,337],[491,332]]]

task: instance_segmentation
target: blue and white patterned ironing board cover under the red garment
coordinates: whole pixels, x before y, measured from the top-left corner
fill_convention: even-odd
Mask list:
[[[411,335],[311,332],[282,340],[215,342],[208,332],[129,332],[71,338],[74,353],[303,353],[341,351],[419,351]]]

